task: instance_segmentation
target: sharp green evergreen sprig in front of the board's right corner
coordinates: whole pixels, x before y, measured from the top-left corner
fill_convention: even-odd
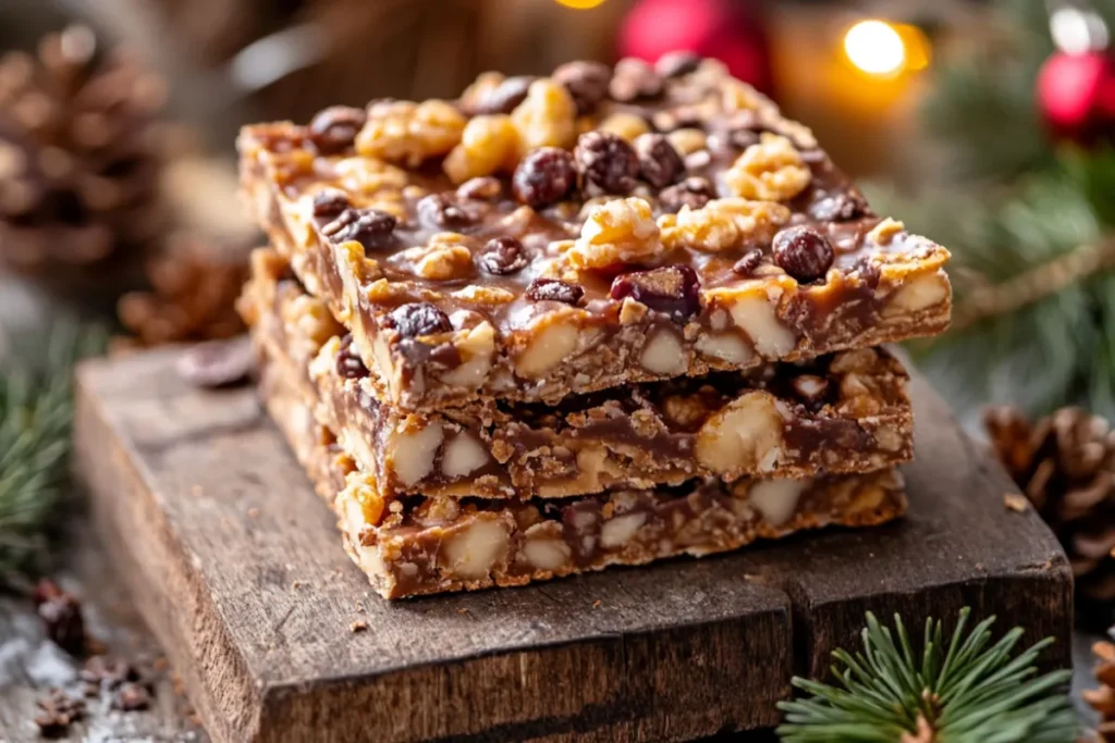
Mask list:
[[[925,622],[920,647],[902,619],[894,630],[871,613],[863,651],[835,651],[835,684],[794,678],[809,698],[783,702],[786,743],[1070,743],[1076,714],[1065,690],[1072,674],[1037,675],[1039,642],[1017,656],[1022,636],[1011,629],[991,644],[995,617],[967,632],[971,612],[960,612],[946,642],[941,622]]]

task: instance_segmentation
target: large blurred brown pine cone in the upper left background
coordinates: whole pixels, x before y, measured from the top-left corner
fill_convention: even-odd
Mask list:
[[[85,27],[0,58],[0,261],[56,272],[154,237],[164,98]]]

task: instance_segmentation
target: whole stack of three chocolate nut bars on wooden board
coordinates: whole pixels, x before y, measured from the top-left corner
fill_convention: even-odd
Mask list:
[[[246,127],[272,417],[387,598],[902,515],[948,252],[715,61]]]

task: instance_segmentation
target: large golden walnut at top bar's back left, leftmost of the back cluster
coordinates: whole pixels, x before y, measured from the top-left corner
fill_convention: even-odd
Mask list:
[[[361,155],[415,168],[453,149],[464,128],[465,117],[444,100],[382,101],[368,107],[356,148]]]

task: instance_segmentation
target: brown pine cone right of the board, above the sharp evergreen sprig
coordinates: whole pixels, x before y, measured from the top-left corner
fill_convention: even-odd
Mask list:
[[[1031,424],[1015,408],[983,418],[999,460],[1060,540],[1078,598],[1115,603],[1115,432],[1079,408]]]

